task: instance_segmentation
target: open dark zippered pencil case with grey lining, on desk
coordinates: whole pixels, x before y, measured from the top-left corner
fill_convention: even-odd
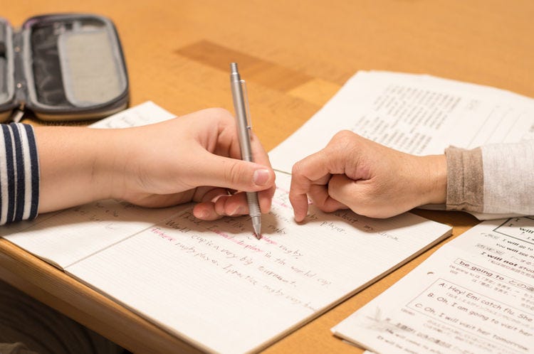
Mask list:
[[[97,119],[125,109],[128,77],[117,30],[93,14],[0,18],[0,122]],[[20,112],[19,112],[20,111]]]

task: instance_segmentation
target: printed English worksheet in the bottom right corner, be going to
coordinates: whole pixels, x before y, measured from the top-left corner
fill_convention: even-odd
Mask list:
[[[333,332],[379,353],[533,353],[534,218],[471,228]]]

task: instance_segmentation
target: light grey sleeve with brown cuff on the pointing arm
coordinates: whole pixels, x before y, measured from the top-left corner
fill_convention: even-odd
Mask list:
[[[534,140],[472,150],[449,147],[445,154],[447,209],[534,215]]]

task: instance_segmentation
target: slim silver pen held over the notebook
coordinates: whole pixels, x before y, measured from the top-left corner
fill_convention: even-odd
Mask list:
[[[245,81],[241,80],[237,71],[237,63],[230,64],[230,85],[232,97],[234,98],[234,109],[236,111],[237,134],[239,136],[239,146],[241,147],[241,159],[253,161],[251,151],[251,136],[249,130],[251,124],[248,117],[248,102],[243,92]],[[261,239],[261,210],[258,203],[257,192],[246,192],[248,202],[248,215],[251,215],[252,227],[256,233],[256,238]]]

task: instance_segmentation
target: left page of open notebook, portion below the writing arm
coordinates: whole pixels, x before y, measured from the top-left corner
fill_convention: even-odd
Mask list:
[[[174,213],[173,208],[145,209],[103,200],[5,225],[1,232],[6,240],[65,269]]]

